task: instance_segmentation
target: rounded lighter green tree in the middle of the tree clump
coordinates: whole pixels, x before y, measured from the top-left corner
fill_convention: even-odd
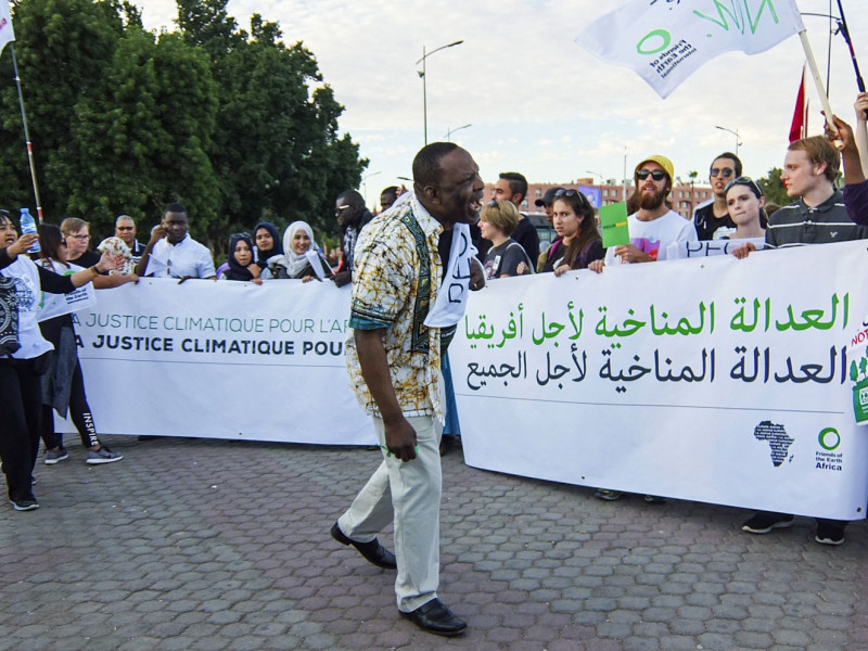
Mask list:
[[[193,235],[207,233],[220,202],[208,158],[217,89],[204,52],[178,35],[155,41],[131,27],[100,92],[82,97],[76,112],[72,140],[85,174],[71,182],[71,210],[155,221],[179,201]]]

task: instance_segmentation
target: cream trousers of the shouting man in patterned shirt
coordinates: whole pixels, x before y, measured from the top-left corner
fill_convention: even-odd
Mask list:
[[[418,445],[412,461],[383,451],[383,462],[356,496],[337,526],[349,538],[369,542],[390,522],[395,523],[398,610],[410,612],[437,596],[441,565],[441,434],[433,416],[407,419]],[[382,419],[373,419],[380,445],[385,445]]]

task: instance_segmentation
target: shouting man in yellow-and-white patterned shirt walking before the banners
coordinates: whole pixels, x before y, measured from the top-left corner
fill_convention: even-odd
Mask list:
[[[471,155],[449,142],[413,161],[413,191],[373,219],[356,244],[347,368],[373,417],[383,462],[332,526],[371,563],[396,567],[398,611],[444,636],[467,624],[439,599],[443,427],[441,352],[455,328],[424,324],[451,251],[452,227],[478,218],[485,184]],[[396,556],[376,534],[395,524]]]

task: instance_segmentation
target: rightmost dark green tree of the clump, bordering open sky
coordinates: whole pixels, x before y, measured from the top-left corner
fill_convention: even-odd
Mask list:
[[[336,232],[334,197],[357,188],[367,166],[358,145],[337,137],[343,106],[328,85],[311,92],[322,76],[303,43],[284,46],[279,26],[258,14],[250,35],[239,30],[225,7],[178,0],[184,39],[209,53],[220,93],[210,159],[222,212],[209,238],[222,244],[261,219]]]

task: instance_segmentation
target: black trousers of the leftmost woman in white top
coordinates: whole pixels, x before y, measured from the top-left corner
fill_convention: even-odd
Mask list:
[[[42,416],[42,383],[47,356],[34,359],[0,359],[0,460],[10,499],[33,497],[30,476],[39,452]]]

